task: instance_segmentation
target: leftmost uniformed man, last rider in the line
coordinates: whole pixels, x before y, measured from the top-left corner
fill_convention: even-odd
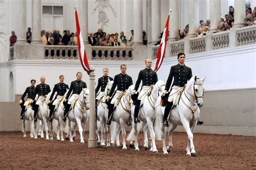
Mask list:
[[[26,88],[25,92],[23,93],[23,95],[21,97],[21,100],[19,100],[19,104],[21,104],[21,108],[22,108],[21,119],[23,119],[23,114],[24,114],[26,105],[28,105],[29,102],[31,102],[31,98],[35,94],[35,90],[36,90],[35,83],[36,83],[36,80],[32,79],[30,81],[30,83],[31,83],[31,86]],[[26,94],[28,94],[28,97],[26,98],[26,102],[24,102],[24,97],[26,96]],[[24,104],[22,104],[22,103],[24,103]]]

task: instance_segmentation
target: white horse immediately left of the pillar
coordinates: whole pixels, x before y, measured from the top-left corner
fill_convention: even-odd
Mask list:
[[[69,111],[68,124],[69,124],[70,142],[73,142],[72,130],[73,130],[73,128],[76,128],[76,125],[75,125],[75,127],[71,126],[71,121],[72,121],[72,122],[75,122],[78,126],[79,133],[80,133],[80,143],[84,144],[84,135],[83,135],[84,127],[90,117],[90,113],[89,113],[90,98],[89,98],[89,96],[90,96],[89,89],[84,88],[81,91],[78,100],[75,102],[74,108]]]

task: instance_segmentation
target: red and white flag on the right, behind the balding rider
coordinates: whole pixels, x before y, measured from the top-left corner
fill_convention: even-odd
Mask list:
[[[169,30],[169,18],[170,18],[170,13],[172,11],[170,10],[169,12],[169,16],[167,18],[166,24],[165,24],[165,29],[163,32],[163,37],[161,39],[161,43],[157,52],[157,58],[156,58],[156,62],[154,63],[154,71],[157,72],[164,60],[164,54],[165,54],[165,47],[167,44],[167,37],[168,37],[168,30]]]

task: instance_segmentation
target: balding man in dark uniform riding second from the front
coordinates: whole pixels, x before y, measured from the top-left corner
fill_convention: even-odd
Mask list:
[[[139,88],[140,81],[142,81],[142,89],[139,92],[138,100],[136,102],[135,109],[134,109],[134,123],[140,123],[138,118],[140,101],[143,100],[150,86],[152,84],[156,84],[156,82],[158,81],[157,73],[151,69],[151,64],[152,64],[151,59],[145,60],[146,68],[143,70],[140,70],[138,80],[136,81],[135,87],[131,93],[132,95],[136,93],[136,91]]]

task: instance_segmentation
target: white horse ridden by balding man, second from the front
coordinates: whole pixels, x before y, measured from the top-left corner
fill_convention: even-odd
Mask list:
[[[164,91],[165,89],[165,83],[162,80],[159,80],[154,86],[153,89],[150,93],[150,89],[149,92],[150,95],[148,96],[146,94],[145,97],[143,97],[143,101],[142,101],[142,106],[140,107],[139,110],[139,119],[142,122],[145,122],[144,124],[144,148],[147,149],[149,147],[149,141],[147,139],[147,130],[150,130],[150,136],[152,139],[152,143],[151,143],[151,148],[150,151],[153,152],[158,152],[157,150],[157,146],[155,143],[155,138],[156,138],[156,134],[154,133],[154,129],[153,129],[153,124],[156,121],[156,108],[155,108],[155,103],[157,101],[157,98],[159,96],[159,91]],[[132,116],[134,116],[134,108],[131,108],[132,111]],[[129,137],[127,138],[127,140],[131,141],[131,146],[133,146],[133,143],[135,141],[135,150],[139,151],[139,147],[138,147],[138,133],[139,133],[139,129],[142,126],[142,123],[133,123],[132,124],[132,130],[129,134]]]

